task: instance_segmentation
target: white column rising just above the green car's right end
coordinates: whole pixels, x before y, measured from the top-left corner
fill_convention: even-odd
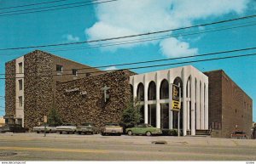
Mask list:
[[[161,116],[160,116],[160,79],[159,72],[156,72],[156,127],[160,128]]]

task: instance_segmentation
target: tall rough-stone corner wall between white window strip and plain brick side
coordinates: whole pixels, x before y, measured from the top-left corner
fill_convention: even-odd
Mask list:
[[[53,58],[36,52],[24,57],[24,126],[35,127],[53,107]]]

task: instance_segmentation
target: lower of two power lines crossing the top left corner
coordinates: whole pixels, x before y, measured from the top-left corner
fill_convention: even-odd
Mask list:
[[[98,1],[98,0],[96,0],[96,1]],[[62,8],[42,7],[42,8],[51,8],[51,9],[42,9],[42,10],[37,10],[37,11],[23,12],[23,13],[16,13],[16,14],[0,14],[0,17],[17,15],[17,14],[32,14],[32,13],[39,13],[39,12],[45,12],[45,11],[67,9],[67,8],[79,8],[79,7],[84,7],[84,6],[94,5],[94,4],[100,4],[100,3],[110,3],[110,2],[114,2],[114,1],[118,1],[118,0],[106,0],[106,1],[102,1],[102,2],[96,2],[96,3],[93,3],[93,1],[90,1],[91,3],[80,4],[80,5],[70,6],[70,7],[62,7]],[[67,5],[67,4],[62,4],[62,5],[57,5],[57,6],[65,6],[65,5]],[[32,9],[26,9],[26,10],[32,10]],[[8,12],[3,12],[3,13],[8,13]]]

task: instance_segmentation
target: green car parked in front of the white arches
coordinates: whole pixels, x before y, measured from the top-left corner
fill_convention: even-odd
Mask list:
[[[162,133],[160,128],[152,127],[151,125],[148,125],[148,124],[139,124],[136,127],[126,128],[125,132],[128,133],[128,135],[141,134],[141,135],[147,135],[147,136]]]

